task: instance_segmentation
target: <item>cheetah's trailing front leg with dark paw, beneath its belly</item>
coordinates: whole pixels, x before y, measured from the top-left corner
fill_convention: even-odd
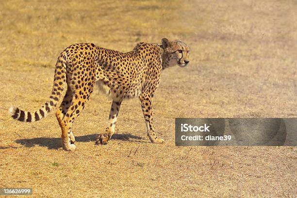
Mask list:
[[[110,108],[110,114],[109,114],[109,126],[106,128],[105,133],[99,134],[97,140],[95,141],[95,144],[99,145],[105,145],[110,140],[112,135],[115,133],[115,122],[117,119],[119,107],[121,105],[121,102],[113,100],[112,106]]]

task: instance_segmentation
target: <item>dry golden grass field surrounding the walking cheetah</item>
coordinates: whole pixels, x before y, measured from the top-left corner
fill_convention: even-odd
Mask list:
[[[297,117],[295,0],[0,1],[0,187],[32,197],[272,197],[297,195],[296,147],[175,147],[175,117]],[[117,132],[95,146],[111,101],[98,89],[62,149],[54,113],[32,124],[11,105],[39,108],[67,46],[129,51],[179,38],[190,64],[165,69],[148,141],[138,99],[122,103]]]

